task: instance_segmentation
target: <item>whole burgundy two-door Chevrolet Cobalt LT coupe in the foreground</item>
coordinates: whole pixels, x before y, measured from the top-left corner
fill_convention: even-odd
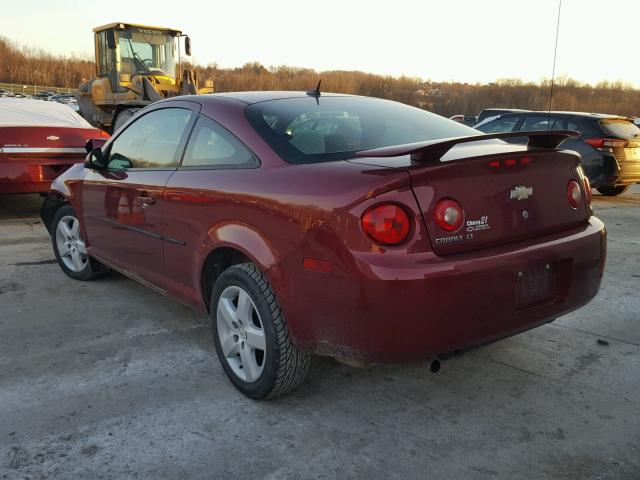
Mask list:
[[[528,145],[403,104],[317,92],[177,97],[59,177],[42,216],[62,270],[114,269],[211,316],[252,398],[310,354],[435,358],[598,292],[605,229],[571,131]]]

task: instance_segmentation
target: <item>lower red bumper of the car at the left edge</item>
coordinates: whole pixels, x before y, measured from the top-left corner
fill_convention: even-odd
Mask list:
[[[46,193],[55,178],[80,161],[0,158],[0,193]]]

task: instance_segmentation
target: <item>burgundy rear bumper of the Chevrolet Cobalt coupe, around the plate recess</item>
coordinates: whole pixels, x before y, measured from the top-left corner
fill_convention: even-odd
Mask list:
[[[283,282],[296,267],[284,262],[268,274],[302,349],[403,362],[506,337],[585,305],[600,287],[605,254],[604,225],[591,217],[569,232],[465,254],[407,255],[390,266],[367,252],[342,255],[333,273],[298,267]],[[546,264],[557,269],[555,294],[523,308],[518,273]]]

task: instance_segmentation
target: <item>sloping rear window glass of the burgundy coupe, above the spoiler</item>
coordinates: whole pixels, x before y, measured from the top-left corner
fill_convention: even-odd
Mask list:
[[[346,160],[359,150],[481,134],[419,108],[365,97],[271,100],[250,105],[246,115],[291,163]]]

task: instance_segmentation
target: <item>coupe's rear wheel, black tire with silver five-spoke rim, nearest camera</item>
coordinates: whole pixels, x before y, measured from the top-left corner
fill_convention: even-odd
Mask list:
[[[252,263],[234,265],[218,277],[211,326],[222,368],[247,397],[287,393],[309,372],[310,356],[291,341],[269,283]]]

